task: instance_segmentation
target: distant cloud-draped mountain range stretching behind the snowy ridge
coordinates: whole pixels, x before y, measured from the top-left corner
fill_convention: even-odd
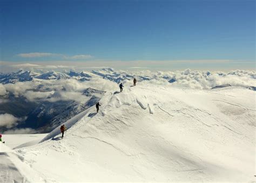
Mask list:
[[[24,71],[0,73],[0,116],[10,114],[16,118],[15,125],[1,126],[0,132],[29,128],[33,133],[46,133],[76,114],[95,105],[106,91],[118,91],[123,82],[125,89],[132,85],[134,77],[140,85],[158,84],[173,87],[196,87],[219,89],[241,86],[255,91],[255,75],[252,72],[228,73],[198,72],[128,72],[111,68],[93,71],[69,72]],[[223,83],[225,78],[250,78],[252,82]],[[217,79],[216,79],[217,78]],[[221,83],[221,82],[222,83]],[[197,85],[196,85],[197,84]],[[253,84],[253,85],[251,85]],[[104,87],[103,87],[104,86]],[[5,118],[4,118],[5,119]],[[4,120],[0,117],[0,120]]]

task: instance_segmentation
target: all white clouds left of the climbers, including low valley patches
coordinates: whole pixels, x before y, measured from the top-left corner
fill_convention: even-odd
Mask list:
[[[25,97],[26,100],[31,102],[48,101],[54,103],[59,100],[74,100],[79,103],[85,103],[90,99],[90,97],[83,95],[84,90],[88,87],[100,91],[111,91],[116,88],[116,85],[116,83],[100,77],[92,78],[89,82],[79,82],[76,79],[59,79],[0,84],[0,97],[3,97],[0,99],[0,104],[8,105],[9,93],[14,94],[16,98]],[[25,118],[16,118],[9,113],[0,114],[0,128],[12,128],[12,130],[5,131],[5,134],[34,133],[35,130],[31,128],[14,128],[18,125],[19,121],[23,120]]]

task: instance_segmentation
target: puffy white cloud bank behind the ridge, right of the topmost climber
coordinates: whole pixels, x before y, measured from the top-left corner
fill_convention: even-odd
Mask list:
[[[184,71],[138,71],[130,74],[133,76],[148,76],[153,78],[152,80],[143,80],[142,84],[150,83],[190,89],[208,90],[215,86],[225,84],[241,87],[256,86],[256,72],[253,70],[210,72],[186,69]]]

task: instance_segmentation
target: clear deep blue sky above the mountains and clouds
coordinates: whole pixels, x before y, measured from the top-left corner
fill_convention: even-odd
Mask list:
[[[153,60],[165,69],[255,69],[255,1],[1,0],[0,7],[5,64]]]

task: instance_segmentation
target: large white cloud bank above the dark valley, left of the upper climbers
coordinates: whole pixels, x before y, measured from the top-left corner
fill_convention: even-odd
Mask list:
[[[86,101],[89,98],[84,96],[83,92],[88,87],[100,91],[111,91],[118,88],[116,83],[99,76],[92,77],[89,82],[80,82],[77,79],[53,79],[17,82],[2,86],[7,92],[14,93],[15,97],[23,96],[29,101],[47,100],[50,102],[59,100]],[[35,91],[37,89],[39,91]]]

